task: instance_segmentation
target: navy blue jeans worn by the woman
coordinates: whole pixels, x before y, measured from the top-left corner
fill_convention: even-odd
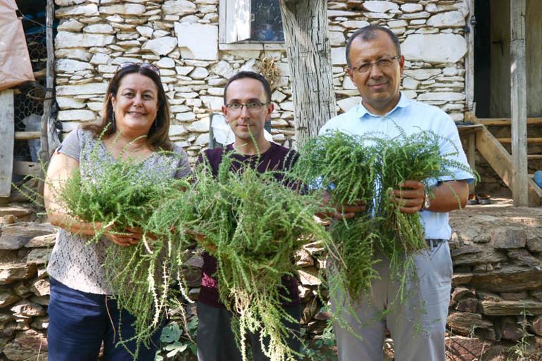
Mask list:
[[[47,330],[49,361],[96,361],[103,341],[103,361],[132,361],[134,341],[115,346],[134,336],[135,318],[106,295],[70,289],[51,278]],[[122,327],[120,326],[122,323]],[[120,330],[120,332],[119,332]],[[159,345],[160,331],[151,339],[151,348],[139,347],[137,360],[153,361]]]

